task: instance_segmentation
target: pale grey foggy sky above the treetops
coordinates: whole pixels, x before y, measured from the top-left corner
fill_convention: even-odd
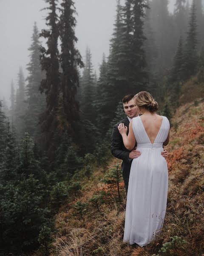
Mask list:
[[[175,0],[170,0],[173,10]],[[34,21],[38,29],[46,28],[44,0],[0,0],[0,99],[9,99],[11,79],[17,83],[19,66],[27,76],[28,47],[31,44]],[[78,49],[85,56],[88,45],[92,62],[98,73],[102,53],[109,54],[109,40],[113,33],[116,0],[75,0],[78,12],[76,35]]]

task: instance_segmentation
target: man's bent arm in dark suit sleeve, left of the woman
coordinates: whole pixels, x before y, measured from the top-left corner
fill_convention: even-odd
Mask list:
[[[118,126],[113,126],[112,142],[111,142],[111,153],[114,157],[122,159],[123,161],[130,163],[129,154],[130,152],[122,150],[122,136],[118,131]]]

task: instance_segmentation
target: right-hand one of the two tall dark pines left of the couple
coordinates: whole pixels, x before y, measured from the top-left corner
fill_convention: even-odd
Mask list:
[[[74,31],[77,23],[74,2],[72,0],[63,0],[61,6],[59,35],[62,41],[60,54],[60,64],[62,67],[62,104],[65,118],[73,126],[74,121],[79,120],[79,106],[76,100],[77,88],[79,87],[77,69],[78,67],[83,67],[83,63],[79,50],[75,46],[78,39]]]

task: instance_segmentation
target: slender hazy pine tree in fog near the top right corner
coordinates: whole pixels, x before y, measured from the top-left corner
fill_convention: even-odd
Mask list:
[[[194,75],[197,68],[197,20],[195,12],[195,0],[193,0],[190,13],[189,28],[184,52],[185,78]]]

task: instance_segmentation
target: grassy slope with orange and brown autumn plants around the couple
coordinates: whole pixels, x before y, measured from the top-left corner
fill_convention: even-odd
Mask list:
[[[201,256],[204,255],[204,102],[187,103],[172,119],[167,146],[169,192],[161,235],[146,247],[122,242],[125,224],[125,189],[101,183],[103,168],[83,177],[82,190],[64,203],[55,218],[57,233],[51,256]],[[109,168],[121,163],[112,158]],[[106,170],[106,174],[109,169]],[[102,193],[103,192],[103,193]],[[99,194],[101,193],[101,194]],[[89,201],[102,195],[97,205]],[[73,205],[87,203],[81,212]],[[42,255],[41,247],[32,256]],[[45,255],[45,254],[44,254]]]

